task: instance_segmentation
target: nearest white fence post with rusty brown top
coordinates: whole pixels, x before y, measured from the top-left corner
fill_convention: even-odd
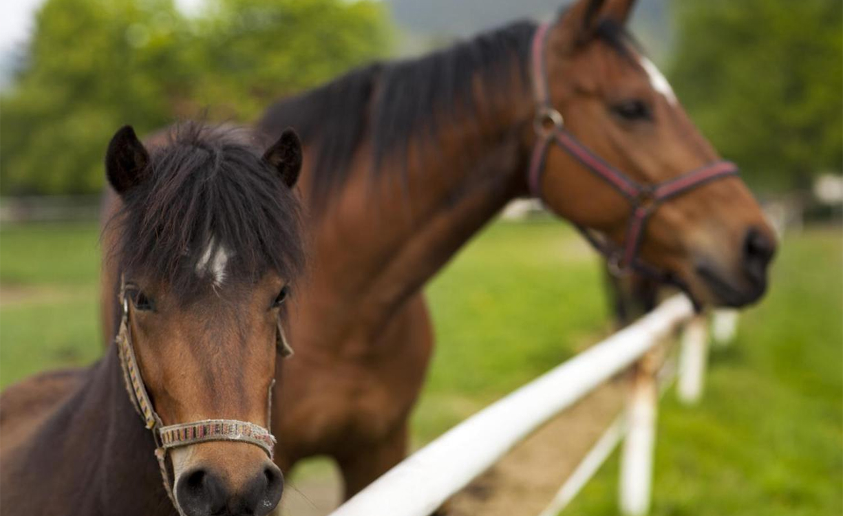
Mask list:
[[[620,512],[625,516],[650,512],[658,411],[657,362],[656,353],[648,352],[632,371],[626,439],[620,456]]]

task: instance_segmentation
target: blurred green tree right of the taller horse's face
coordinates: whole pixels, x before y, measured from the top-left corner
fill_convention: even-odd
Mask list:
[[[672,76],[691,116],[754,184],[843,169],[843,3],[681,0]]]

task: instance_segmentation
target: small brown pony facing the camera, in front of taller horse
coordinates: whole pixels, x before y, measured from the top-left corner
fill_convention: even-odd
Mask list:
[[[131,126],[116,132],[105,241],[122,278],[117,342],[89,368],[3,392],[4,514],[263,516],[277,506],[283,477],[266,428],[287,349],[283,303],[303,269],[302,153],[291,131],[262,141],[196,123],[148,146]]]

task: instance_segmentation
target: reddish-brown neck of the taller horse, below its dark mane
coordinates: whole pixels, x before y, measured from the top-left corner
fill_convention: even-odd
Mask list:
[[[368,159],[354,162],[348,185],[319,223],[310,284],[330,293],[338,333],[351,327],[361,342],[373,341],[473,234],[526,193],[530,107],[524,94],[506,113],[489,114],[497,125],[484,126],[485,134],[452,126],[438,148],[411,146],[405,172],[394,164],[372,180]]]

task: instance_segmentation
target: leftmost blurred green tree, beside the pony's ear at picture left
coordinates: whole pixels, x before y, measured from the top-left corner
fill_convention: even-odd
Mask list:
[[[170,0],[51,0],[0,98],[3,193],[94,191],[108,138],[164,124],[185,71]]]

